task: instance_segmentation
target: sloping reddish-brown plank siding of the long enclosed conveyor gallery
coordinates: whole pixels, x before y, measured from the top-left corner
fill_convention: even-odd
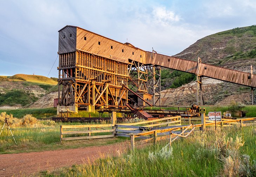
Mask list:
[[[152,53],[147,52],[146,55],[147,64],[155,64],[165,68],[175,69],[187,73],[197,73],[197,62],[178,59],[175,57],[155,54],[154,59]],[[206,69],[204,69],[206,67]],[[240,84],[243,86],[249,86],[256,88],[256,75],[252,75],[252,79],[248,79],[250,73],[245,73],[237,70],[231,70],[227,68],[221,68],[210,64],[200,63],[199,75],[210,77],[213,79]]]

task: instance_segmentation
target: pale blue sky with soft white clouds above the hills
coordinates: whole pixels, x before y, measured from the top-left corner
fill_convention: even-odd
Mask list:
[[[256,0],[0,0],[0,75],[58,77],[66,25],[175,55],[207,35],[255,25],[255,17]]]

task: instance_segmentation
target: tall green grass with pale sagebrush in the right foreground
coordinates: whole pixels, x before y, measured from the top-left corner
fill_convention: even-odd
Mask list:
[[[93,164],[73,165],[38,176],[256,176],[256,127],[207,128],[167,146],[161,141]]]

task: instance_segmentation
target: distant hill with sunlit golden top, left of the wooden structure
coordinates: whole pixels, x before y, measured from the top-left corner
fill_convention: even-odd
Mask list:
[[[56,80],[57,78],[26,74],[0,76],[0,106],[23,107],[34,103],[45,94],[58,90]]]

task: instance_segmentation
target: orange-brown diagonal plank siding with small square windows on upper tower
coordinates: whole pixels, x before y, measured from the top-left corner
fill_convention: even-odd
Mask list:
[[[86,40],[84,37],[86,37]],[[124,63],[128,63],[128,59],[145,62],[146,52],[139,48],[131,47],[81,28],[77,28],[76,38],[76,48],[79,50],[85,50],[86,52],[107,58],[110,58],[111,55],[112,60]],[[111,46],[113,49],[111,49]]]

